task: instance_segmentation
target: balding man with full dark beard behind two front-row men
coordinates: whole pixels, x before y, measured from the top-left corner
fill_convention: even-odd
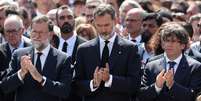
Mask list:
[[[74,62],[77,47],[84,43],[86,40],[80,36],[77,36],[75,32],[75,18],[71,8],[67,5],[63,5],[58,8],[56,12],[57,26],[61,30],[61,37],[59,38],[59,45],[56,46],[59,50],[67,53],[68,56],[72,57],[71,60],[71,71],[74,73]],[[82,98],[75,93],[74,82],[72,82],[72,90],[68,99],[65,101],[81,101]]]

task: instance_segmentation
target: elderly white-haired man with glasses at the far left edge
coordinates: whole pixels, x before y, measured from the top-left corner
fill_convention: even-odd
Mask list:
[[[12,52],[17,48],[31,45],[31,42],[22,38],[24,25],[22,19],[17,15],[11,15],[4,22],[4,36],[7,42],[0,45],[0,80],[6,75]],[[6,94],[2,101],[13,101],[14,94]]]

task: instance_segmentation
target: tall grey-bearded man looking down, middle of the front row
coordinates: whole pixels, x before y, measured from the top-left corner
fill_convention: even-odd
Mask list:
[[[114,31],[115,10],[100,4],[94,12],[98,37],[79,46],[75,82],[85,101],[130,101],[140,85],[140,57],[131,41]]]

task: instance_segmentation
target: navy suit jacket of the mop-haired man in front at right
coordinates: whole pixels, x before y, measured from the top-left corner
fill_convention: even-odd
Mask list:
[[[162,91],[155,91],[156,76],[165,68],[164,56],[149,62],[144,71],[140,101],[194,101],[201,87],[201,64],[193,58],[183,55],[174,76],[171,89],[164,85]]]

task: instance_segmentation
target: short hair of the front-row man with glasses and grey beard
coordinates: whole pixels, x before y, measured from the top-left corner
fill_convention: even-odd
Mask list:
[[[45,22],[48,24],[48,30],[50,32],[53,31],[54,24],[46,15],[39,15],[39,16],[34,17],[32,20],[32,23],[31,23],[31,29],[32,29],[32,25],[34,23],[42,23],[42,22]]]

